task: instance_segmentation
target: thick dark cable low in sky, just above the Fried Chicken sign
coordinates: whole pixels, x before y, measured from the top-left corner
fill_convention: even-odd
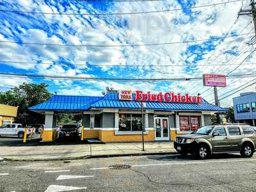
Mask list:
[[[82,76],[47,76],[40,74],[17,74],[0,72],[0,76],[3,77],[39,77],[45,79],[76,79],[76,80],[94,80],[94,81],[196,81],[202,79],[202,77],[181,77],[181,78],[109,78],[109,77],[82,77]],[[239,76],[255,77],[256,74],[236,74],[227,77],[235,78]],[[207,78],[207,77],[206,77]],[[211,77],[209,77],[211,78]]]

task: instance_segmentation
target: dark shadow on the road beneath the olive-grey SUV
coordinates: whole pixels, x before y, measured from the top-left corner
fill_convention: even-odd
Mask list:
[[[232,158],[242,158],[242,157],[240,156],[240,154],[214,154],[209,159],[232,159]],[[156,161],[197,160],[193,155],[182,156],[180,154],[148,156],[148,159],[152,159]]]

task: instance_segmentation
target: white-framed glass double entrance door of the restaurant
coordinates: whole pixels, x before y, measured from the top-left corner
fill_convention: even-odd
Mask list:
[[[155,140],[157,141],[170,140],[168,118],[155,117],[154,128],[155,128]]]

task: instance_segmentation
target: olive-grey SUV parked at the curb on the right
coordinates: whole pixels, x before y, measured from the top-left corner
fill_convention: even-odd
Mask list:
[[[206,159],[211,154],[240,152],[252,157],[255,152],[256,133],[250,125],[223,124],[200,127],[192,134],[178,136],[174,148],[180,154],[195,154]]]

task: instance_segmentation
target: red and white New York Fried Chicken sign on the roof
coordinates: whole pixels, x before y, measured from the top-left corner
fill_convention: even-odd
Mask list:
[[[120,100],[132,100],[132,92],[120,90],[119,91]],[[189,94],[182,95],[180,93],[173,92],[160,92],[160,93],[143,93],[142,91],[134,92],[134,100],[136,101],[157,101],[157,102],[186,102],[186,103],[201,103],[202,97],[190,96]]]

